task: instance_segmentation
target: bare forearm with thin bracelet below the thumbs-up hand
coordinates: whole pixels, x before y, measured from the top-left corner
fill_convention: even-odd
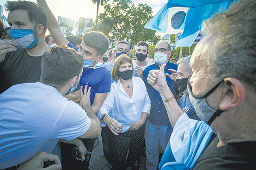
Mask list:
[[[176,102],[173,93],[170,91],[168,86],[165,86],[159,92],[166,108],[170,124],[174,128],[175,123],[178,121],[179,117],[184,113],[184,111]]]

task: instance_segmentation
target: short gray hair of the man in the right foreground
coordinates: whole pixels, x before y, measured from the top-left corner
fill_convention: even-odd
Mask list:
[[[254,0],[240,0],[226,12],[206,20],[202,29],[205,34],[212,35],[212,41],[198,46],[198,64],[203,64],[202,67],[213,78],[231,76],[256,91],[255,23]]]

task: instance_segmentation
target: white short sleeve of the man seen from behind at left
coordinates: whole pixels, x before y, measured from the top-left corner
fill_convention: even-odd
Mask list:
[[[77,103],[68,101],[56,122],[52,136],[70,141],[85,134],[90,128],[90,123],[86,111]]]

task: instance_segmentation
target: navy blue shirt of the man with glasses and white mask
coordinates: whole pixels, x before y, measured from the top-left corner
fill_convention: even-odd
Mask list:
[[[164,73],[172,74],[172,72],[168,71],[168,69],[174,69],[177,70],[178,65],[167,62],[166,67],[164,67]],[[145,68],[143,71],[143,80],[145,82],[145,85],[147,87],[147,91],[149,93],[149,98],[151,100],[151,110],[150,115],[147,118],[150,123],[153,123],[155,125],[165,125],[168,126],[170,124],[169,118],[166,112],[166,108],[164,107],[163,100],[160,96],[160,93],[154,89],[151,85],[148,84],[147,77],[150,70],[159,70],[159,66],[157,64],[153,64]],[[178,94],[178,88],[176,85],[176,82],[170,79],[166,75],[166,81],[170,88],[170,91],[172,91],[175,99]]]

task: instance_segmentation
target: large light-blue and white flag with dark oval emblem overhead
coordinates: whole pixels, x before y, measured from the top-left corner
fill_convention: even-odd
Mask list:
[[[144,28],[166,34],[182,33],[176,47],[190,47],[202,22],[224,12],[237,0],[169,0]]]

